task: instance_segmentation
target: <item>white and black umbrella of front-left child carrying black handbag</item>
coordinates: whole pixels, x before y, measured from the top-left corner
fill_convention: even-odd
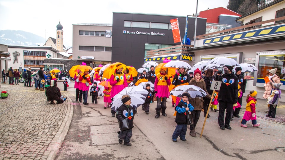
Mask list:
[[[120,107],[122,103],[122,96],[129,95],[131,97],[131,105],[140,106],[145,103],[145,98],[148,95],[148,91],[143,88],[143,86],[133,86],[126,87],[121,92],[116,94],[113,97],[113,101],[111,103],[111,109],[117,111],[118,107]]]

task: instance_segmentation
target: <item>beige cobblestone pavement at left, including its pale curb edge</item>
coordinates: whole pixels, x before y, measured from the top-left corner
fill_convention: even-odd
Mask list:
[[[1,84],[0,91],[10,95],[0,98],[0,159],[54,159],[72,118],[71,99],[51,105],[45,92],[23,83]]]

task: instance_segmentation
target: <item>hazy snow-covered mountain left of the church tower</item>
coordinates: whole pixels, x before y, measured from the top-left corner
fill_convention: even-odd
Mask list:
[[[0,44],[42,46],[45,38],[25,31],[0,30]]]

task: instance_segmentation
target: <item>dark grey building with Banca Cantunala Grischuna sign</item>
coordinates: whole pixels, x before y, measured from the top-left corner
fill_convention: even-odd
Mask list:
[[[112,63],[141,68],[146,52],[179,45],[174,43],[171,19],[178,18],[180,35],[185,34],[186,17],[113,12]],[[195,17],[188,17],[187,35],[194,39]],[[197,35],[205,34],[206,19],[197,18]]]

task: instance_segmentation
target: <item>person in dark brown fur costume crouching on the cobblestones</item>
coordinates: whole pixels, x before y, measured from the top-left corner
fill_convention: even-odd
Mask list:
[[[47,101],[50,104],[64,103],[64,100],[60,98],[60,89],[57,87],[56,80],[50,81],[50,86],[46,88],[45,95],[47,96]]]

